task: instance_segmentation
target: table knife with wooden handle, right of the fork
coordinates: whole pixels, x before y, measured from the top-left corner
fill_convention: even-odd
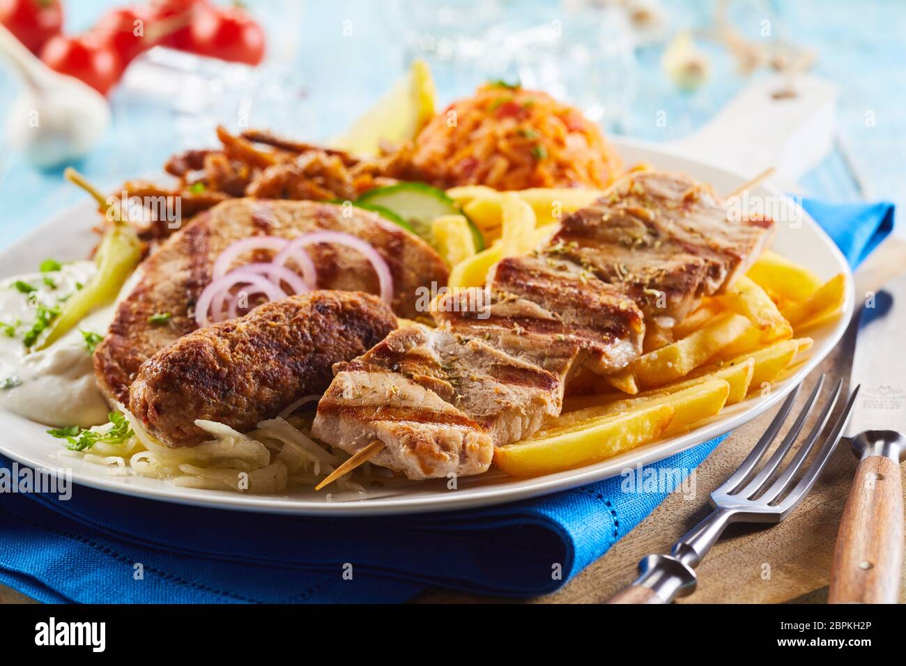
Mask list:
[[[837,533],[829,603],[897,603],[900,597],[904,336],[906,275],[869,294],[860,318],[850,385],[862,388],[845,433],[859,465]]]

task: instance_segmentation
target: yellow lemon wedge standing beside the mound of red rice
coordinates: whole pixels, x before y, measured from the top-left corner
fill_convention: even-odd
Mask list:
[[[352,127],[335,148],[353,155],[377,155],[381,141],[400,144],[415,138],[434,116],[434,79],[428,63],[417,60]]]

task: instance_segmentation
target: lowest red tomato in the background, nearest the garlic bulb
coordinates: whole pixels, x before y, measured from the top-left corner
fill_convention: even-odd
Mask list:
[[[116,52],[86,37],[58,34],[44,44],[41,60],[51,69],[87,83],[102,95],[110,91],[122,73]]]

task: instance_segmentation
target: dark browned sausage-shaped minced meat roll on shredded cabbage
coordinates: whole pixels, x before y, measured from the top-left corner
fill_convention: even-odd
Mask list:
[[[315,291],[266,303],[188,333],[142,363],[129,408],[169,447],[209,439],[197,419],[251,430],[299,396],[323,392],[334,363],[395,327],[390,307],[370,294]]]

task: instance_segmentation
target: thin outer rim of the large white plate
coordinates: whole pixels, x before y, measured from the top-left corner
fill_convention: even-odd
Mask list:
[[[648,150],[695,163],[696,165],[708,169],[723,171],[728,177],[737,179],[740,184],[747,181],[747,178],[742,176],[736,169],[730,169],[714,160],[699,159],[685,151],[673,150],[669,146],[661,145],[656,142],[616,136],[610,137],[609,139],[618,152],[622,147],[630,150]],[[761,185],[759,188],[766,189],[773,195],[784,195],[780,189],[770,185]],[[797,202],[796,206],[799,206]],[[64,208],[56,215],[53,215],[53,217],[50,217],[47,221],[43,222],[43,224],[35,227],[30,233],[20,236],[20,238],[6,246],[2,250],[2,253],[0,253],[0,256],[14,251],[18,246],[27,245],[34,241],[34,239],[39,238],[47,229],[59,225],[60,219],[82,215],[83,210],[90,207],[90,202],[84,202]],[[825,245],[830,249],[836,263],[846,276],[847,282],[843,313],[836,323],[834,330],[825,338],[826,342],[824,344],[826,349],[824,353],[815,353],[810,356],[793,374],[784,379],[775,391],[771,391],[769,396],[758,401],[749,410],[729,419],[714,420],[696,430],[684,433],[679,437],[657,442],[654,447],[643,447],[638,449],[638,455],[631,459],[631,461],[624,461],[622,464],[623,469],[630,467],[635,468],[638,465],[649,465],[653,462],[670,458],[670,456],[679,454],[692,447],[699,446],[711,439],[716,439],[732,430],[736,430],[750,420],[757,419],[757,417],[774,407],[777,402],[783,400],[790,391],[793,391],[818,364],[824,361],[826,355],[834,349],[834,346],[843,337],[843,333],[849,325],[854,310],[855,294],[853,271],[843,256],[843,252],[841,252],[840,248],[834,243],[834,240],[827,235],[824,229],[814,221],[814,218],[811,217],[805,209],[802,209],[802,213],[805,224],[810,225],[813,228],[813,231],[817,232],[820,236],[824,236]],[[59,476],[57,468],[49,468],[46,465],[46,461],[33,458],[27,453],[17,452],[15,449],[8,446],[4,439],[5,438],[0,438],[0,453],[3,453],[5,456],[15,460],[19,464],[24,464],[32,468],[42,468],[51,476]],[[681,441],[682,444],[676,446],[676,442],[678,441]],[[621,457],[612,459],[618,458]],[[164,501],[170,504],[183,506],[294,516],[393,516],[401,514],[417,515],[439,513],[477,507],[499,506],[520,500],[542,497],[558,491],[580,487],[588,483],[602,481],[606,478],[613,478],[620,475],[619,470],[610,469],[609,471],[602,471],[600,468],[602,464],[606,465],[607,460],[602,460],[599,463],[584,466],[582,468],[545,475],[545,477],[526,478],[514,481],[515,484],[520,484],[522,482],[531,484],[528,487],[513,487],[512,485],[482,487],[480,493],[458,494],[454,492],[447,498],[419,496],[410,498],[378,497],[374,499],[363,498],[337,502],[326,499],[327,496],[325,496],[323,501],[317,502],[309,499],[277,498],[266,495],[226,494],[225,491],[209,491],[200,488],[177,487],[172,484],[167,484],[165,481],[160,481],[159,486],[130,486],[126,483],[117,483],[117,477],[111,476],[108,478],[99,478],[83,474],[72,468],[70,469],[70,478],[73,483],[85,487],[92,487],[96,490],[112,492],[129,497],[138,497],[140,499]]]

